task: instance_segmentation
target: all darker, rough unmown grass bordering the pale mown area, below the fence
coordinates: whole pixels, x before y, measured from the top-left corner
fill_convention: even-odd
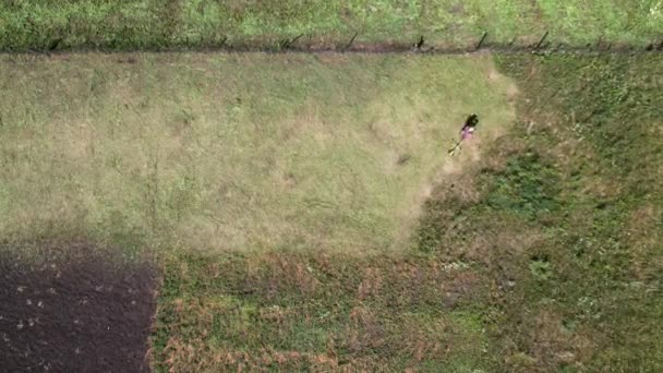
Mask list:
[[[157,371],[663,369],[656,57],[498,57],[516,125],[398,256],[171,258]]]

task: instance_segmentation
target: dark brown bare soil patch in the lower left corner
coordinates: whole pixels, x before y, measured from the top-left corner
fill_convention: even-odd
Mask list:
[[[156,272],[86,245],[56,254],[70,250],[0,252],[0,370],[148,372]]]

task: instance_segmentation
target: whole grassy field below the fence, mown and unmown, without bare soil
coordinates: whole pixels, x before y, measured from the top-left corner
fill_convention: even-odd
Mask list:
[[[158,372],[663,370],[658,56],[1,63],[1,241],[162,254]]]

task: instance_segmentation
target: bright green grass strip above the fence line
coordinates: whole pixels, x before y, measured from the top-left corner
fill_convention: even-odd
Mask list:
[[[660,0],[7,0],[0,3],[0,50],[232,47],[336,48],[357,45],[646,46],[663,38]],[[303,36],[302,36],[303,35]]]

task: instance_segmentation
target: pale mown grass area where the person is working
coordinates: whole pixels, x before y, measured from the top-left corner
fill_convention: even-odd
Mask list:
[[[132,248],[407,245],[470,112],[513,122],[492,58],[5,56],[0,236]]]

